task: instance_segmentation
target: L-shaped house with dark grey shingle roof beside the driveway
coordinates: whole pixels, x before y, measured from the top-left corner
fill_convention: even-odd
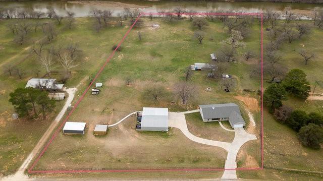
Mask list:
[[[199,109],[203,122],[229,120],[232,128],[242,128],[246,124],[235,103],[199,105]]]

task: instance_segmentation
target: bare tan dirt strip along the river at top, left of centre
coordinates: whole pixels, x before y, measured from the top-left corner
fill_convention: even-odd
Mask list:
[[[99,7],[109,7],[109,8],[149,8],[148,6],[126,4],[120,2],[105,2],[105,1],[69,1],[70,4],[80,4],[80,5],[94,5]]]

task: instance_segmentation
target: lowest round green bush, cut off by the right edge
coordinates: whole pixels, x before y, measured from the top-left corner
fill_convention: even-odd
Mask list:
[[[310,123],[299,130],[298,139],[304,146],[319,149],[320,143],[323,142],[323,130]]]

